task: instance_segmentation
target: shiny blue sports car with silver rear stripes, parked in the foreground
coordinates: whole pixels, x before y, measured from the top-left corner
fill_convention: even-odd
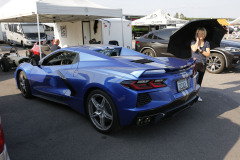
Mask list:
[[[22,95],[68,105],[102,133],[182,111],[200,88],[193,59],[154,58],[112,45],[63,48],[33,62],[15,72]]]

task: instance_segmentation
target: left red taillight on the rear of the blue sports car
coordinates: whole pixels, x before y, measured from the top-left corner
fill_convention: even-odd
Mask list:
[[[127,80],[121,82],[121,85],[124,87],[133,89],[133,90],[147,90],[154,88],[166,87],[165,79],[156,79],[156,80]]]

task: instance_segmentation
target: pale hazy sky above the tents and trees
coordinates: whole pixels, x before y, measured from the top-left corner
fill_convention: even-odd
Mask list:
[[[0,6],[8,0],[0,0]],[[24,2],[24,0],[21,0]],[[123,14],[148,15],[158,9],[188,18],[238,18],[240,0],[90,0],[97,4],[122,8]],[[23,3],[23,5],[25,5]]]

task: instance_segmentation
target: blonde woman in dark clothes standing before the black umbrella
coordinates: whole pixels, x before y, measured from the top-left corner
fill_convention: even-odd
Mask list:
[[[210,43],[204,39],[207,36],[207,30],[203,27],[196,31],[195,41],[191,42],[192,58],[196,60],[195,69],[199,73],[198,84],[201,86],[203,76],[206,70],[207,57],[210,56]],[[202,101],[199,97],[198,101]]]

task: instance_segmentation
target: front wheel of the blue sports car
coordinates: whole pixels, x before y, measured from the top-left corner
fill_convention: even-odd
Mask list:
[[[30,84],[26,74],[23,71],[21,71],[20,74],[18,75],[18,84],[23,97],[31,98],[32,92],[31,92]]]

